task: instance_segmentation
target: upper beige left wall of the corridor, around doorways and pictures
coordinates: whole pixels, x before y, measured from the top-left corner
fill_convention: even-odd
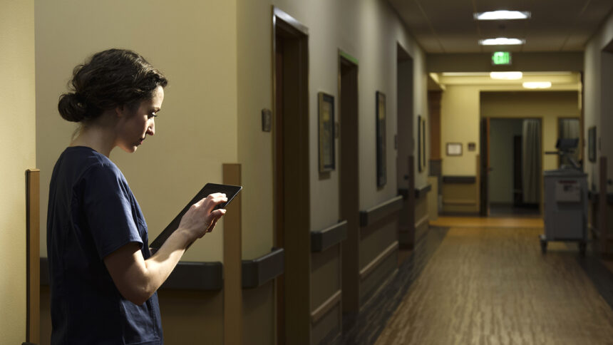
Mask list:
[[[294,16],[309,29],[309,152],[311,170],[311,230],[338,221],[338,168],[320,180],[317,170],[317,92],[335,98],[338,109],[338,51],[359,61],[359,135],[361,209],[397,194],[396,150],[396,42],[413,57],[413,113],[427,116],[425,56],[403,28],[386,1],[240,1],[238,9],[239,160],[243,163],[245,205],[244,258],[257,257],[272,246],[272,133],[259,123],[262,108],[272,109],[271,6]],[[387,184],[376,187],[375,92],[386,94]],[[415,116],[415,118],[417,118]],[[414,126],[415,128],[417,126]],[[416,130],[416,129],[415,129]],[[410,134],[409,134],[410,135]],[[416,134],[415,134],[416,137]],[[338,140],[337,140],[338,144]],[[336,145],[336,167],[339,164]],[[427,172],[416,172],[416,185],[426,185]],[[326,200],[326,202],[321,202]],[[255,226],[257,225],[257,226]],[[254,227],[253,229],[251,227]],[[249,230],[247,230],[249,229]]]

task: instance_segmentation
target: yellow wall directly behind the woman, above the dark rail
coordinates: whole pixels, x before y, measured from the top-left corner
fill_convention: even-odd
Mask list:
[[[41,224],[48,181],[75,125],[57,112],[74,66],[106,48],[130,48],[168,77],[155,136],[134,154],[111,154],[149,227],[150,239],[205,182],[237,162],[236,1],[36,1],[36,108]],[[246,189],[247,191],[247,189]],[[183,259],[222,261],[223,226]],[[45,233],[41,254],[46,256]]]

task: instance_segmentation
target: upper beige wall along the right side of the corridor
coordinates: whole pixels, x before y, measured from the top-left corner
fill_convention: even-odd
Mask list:
[[[602,50],[609,45],[609,52]],[[613,99],[609,96],[613,93],[613,14],[604,22],[601,29],[592,36],[585,48],[584,55],[584,137],[587,138],[587,130],[597,126],[597,158],[608,157],[607,175],[613,178],[613,139],[608,133],[613,128]],[[584,155],[587,157],[587,145],[584,147]],[[586,160],[585,171],[588,173],[588,185],[594,184],[599,187],[598,162],[592,163]],[[607,186],[608,191],[613,191],[613,185]]]

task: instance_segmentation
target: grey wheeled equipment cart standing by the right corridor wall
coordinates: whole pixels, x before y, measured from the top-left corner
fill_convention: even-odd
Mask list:
[[[587,174],[575,169],[545,171],[545,234],[540,235],[543,254],[549,241],[579,242],[587,246]]]

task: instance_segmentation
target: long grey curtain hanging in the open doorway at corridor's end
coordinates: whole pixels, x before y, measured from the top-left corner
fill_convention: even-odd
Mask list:
[[[522,123],[522,192],[525,203],[540,202],[540,121]]]

